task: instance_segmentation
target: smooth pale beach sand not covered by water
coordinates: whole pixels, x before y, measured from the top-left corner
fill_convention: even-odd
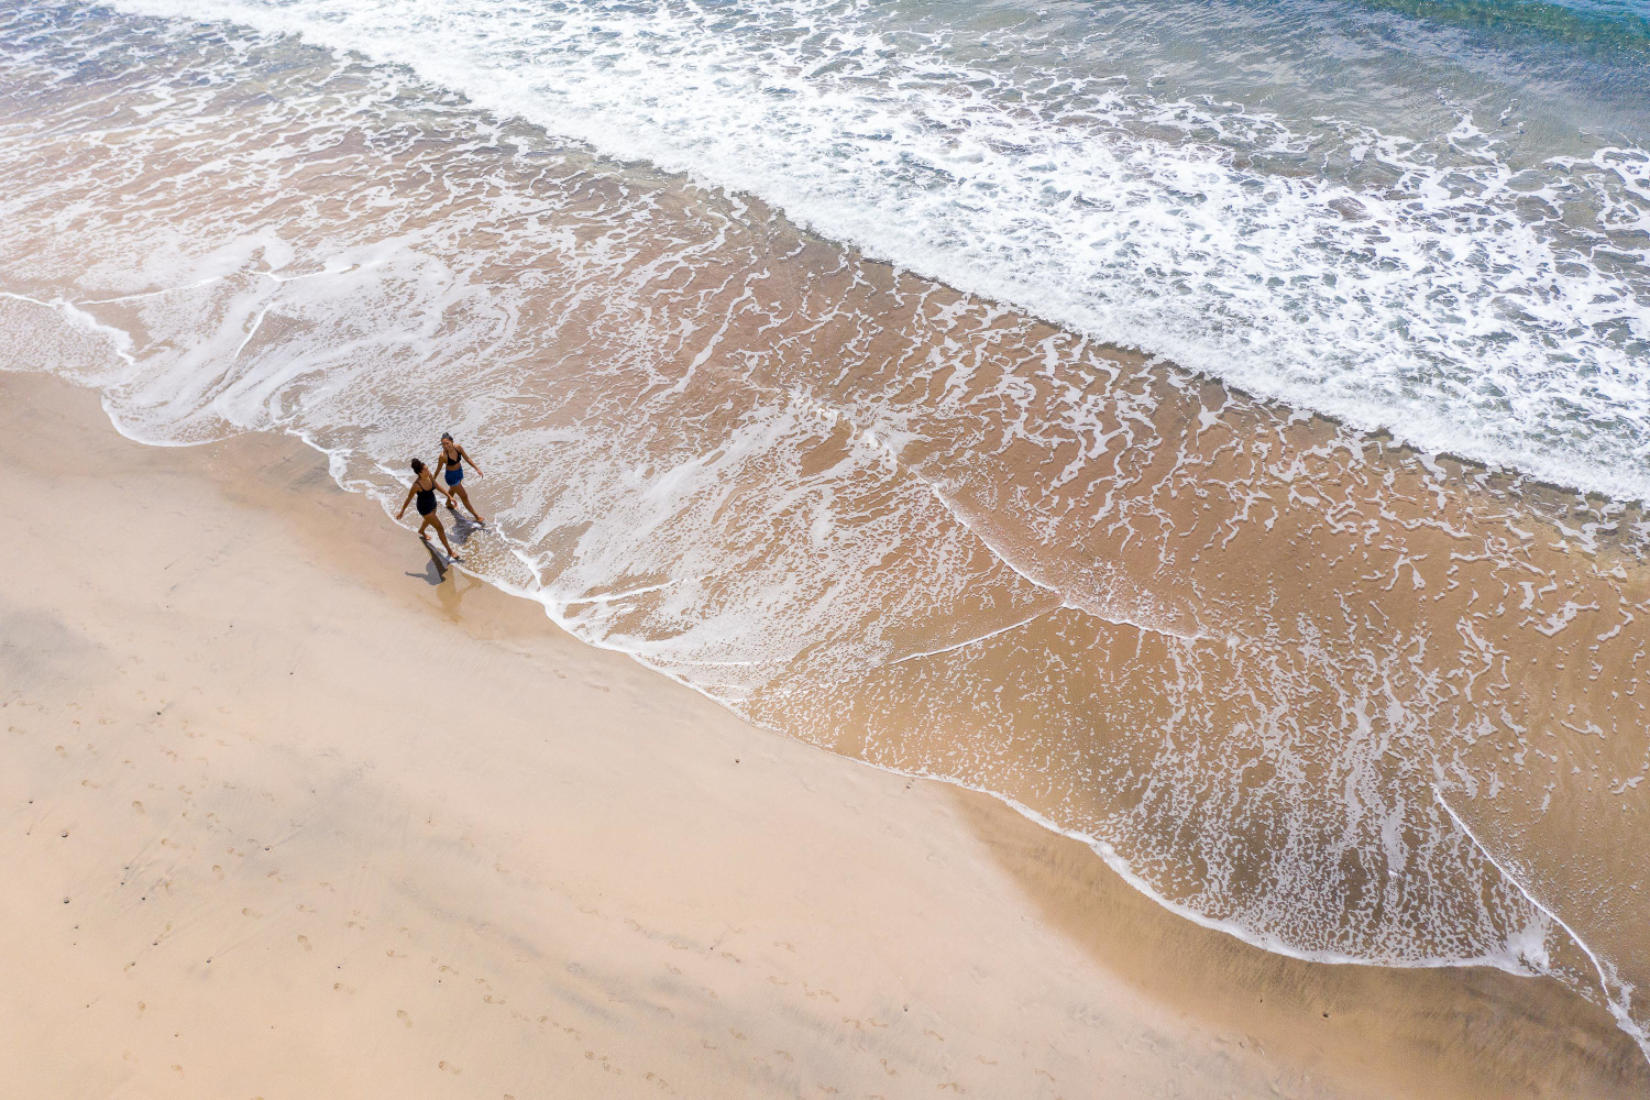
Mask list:
[[[1556,983],[1267,955],[437,582],[294,440],[0,409],[0,1097],[1650,1095]]]

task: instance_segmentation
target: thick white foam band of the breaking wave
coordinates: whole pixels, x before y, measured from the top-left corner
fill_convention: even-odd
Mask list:
[[[1488,130],[1462,106],[1437,132],[1416,129],[1436,119],[1383,130],[1163,96],[1130,79],[1097,20],[947,13],[214,8],[406,64],[604,155],[754,195],[870,256],[1257,396],[1426,452],[1650,495],[1643,148],[1569,132],[1533,155],[1515,139],[1516,92]],[[1211,35],[1211,51],[1228,46]],[[1407,79],[1402,58],[1391,79]]]

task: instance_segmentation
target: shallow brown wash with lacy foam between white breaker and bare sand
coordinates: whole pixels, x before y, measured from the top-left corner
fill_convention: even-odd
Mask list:
[[[3,366],[148,442],[294,432],[391,505],[450,429],[497,519],[459,528],[469,567],[579,637],[1010,798],[1270,950],[1553,973],[1643,1037],[1635,508],[1119,353],[404,68],[0,18]]]

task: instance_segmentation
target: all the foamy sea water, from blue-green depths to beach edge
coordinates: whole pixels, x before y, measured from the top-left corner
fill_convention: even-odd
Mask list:
[[[1650,8],[0,3],[0,364],[1650,1054]],[[546,712],[553,704],[546,701]]]

